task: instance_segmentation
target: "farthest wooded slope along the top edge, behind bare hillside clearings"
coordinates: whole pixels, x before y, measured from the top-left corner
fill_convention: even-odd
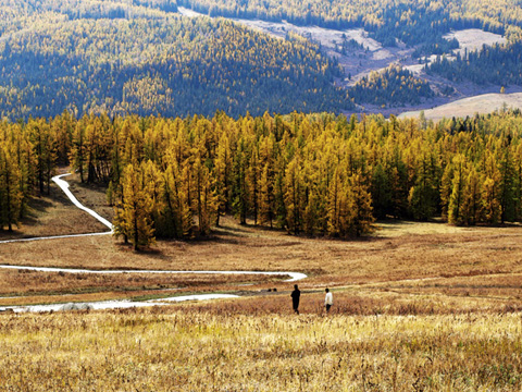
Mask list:
[[[178,0],[178,4],[212,16],[286,20],[331,28],[364,27],[384,46],[447,47],[451,28],[485,28],[520,33],[518,0]]]

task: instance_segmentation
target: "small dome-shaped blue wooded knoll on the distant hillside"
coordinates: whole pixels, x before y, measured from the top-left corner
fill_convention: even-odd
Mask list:
[[[349,90],[357,102],[380,107],[417,105],[435,96],[427,82],[413,77],[412,73],[391,64],[382,72],[372,72]]]

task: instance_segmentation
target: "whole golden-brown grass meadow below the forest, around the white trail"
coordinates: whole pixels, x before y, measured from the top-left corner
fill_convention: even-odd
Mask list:
[[[101,189],[73,181],[110,218]],[[0,270],[0,307],[181,293],[236,299],[139,309],[0,313],[0,391],[520,391],[522,231],[378,223],[358,241],[222,220],[209,238],[135,253],[111,236],[0,244],[0,264],[297,271],[284,278]],[[91,232],[57,189],[12,235]],[[104,230],[104,228],[101,228]],[[330,314],[324,289],[334,293]],[[275,289],[275,290],[274,290]],[[270,291],[269,291],[270,290]]]

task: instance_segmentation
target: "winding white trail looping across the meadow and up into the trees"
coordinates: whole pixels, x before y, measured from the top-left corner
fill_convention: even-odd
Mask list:
[[[20,240],[8,240],[0,241],[2,243],[14,243],[14,242],[27,242],[27,241],[41,241],[41,240],[53,240],[53,238],[70,238],[70,237],[79,237],[79,236],[89,236],[89,235],[108,235],[113,233],[112,223],[109,222],[103,217],[99,216],[96,211],[82,205],[78,199],[72,194],[69,189],[69,183],[62,180],[63,176],[70,174],[61,174],[52,177],[52,181],[57,183],[58,186],[67,195],[70,200],[79,209],[86,211],[101,223],[107,225],[110,230],[102,233],[86,233],[86,234],[72,234],[72,235],[55,235],[55,236],[46,236],[46,237],[34,237],[34,238],[20,238]],[[289,271],[167,271],[167,270],[88,270],[88,269],[73,269],[73,268],[52,268],[52,267],[30,267],[30,266],[10,266],[10,265],[0,265],[1,269],[15,269],[15,270],[30,270],[30,271],[40,271],[40,272],[63,272],[63,273],[201,273],[201,274],[261,274],[261,275],[278,275],[278,277],[290,277],[290,279],[285,280],[285,282],[296,282],[298,280],[308,278],[304,273],[300,272],[289,272]],[[201,294],[201,295],[185,295],[185,296],[175,296],[163,299],[151,299],[146,302],[130,302],[130,301],[104,301],[97,303],[80,303],[75,304],[78,307],[84,306],[85,308],[90,309],[116,309],[116,308],[129,308],[129,307],[146,307],[146,306],[161,306],[167,305],[172,302],[182,302],[182,301],[202,301],[202,299],[216,299],[216,298],[237,298],[238,295],[232,294]],[[66,308],[63,304],[52,304],[52,305],[37,305],[37,306],[9,306],[1,308],[0,310],[13,310],[15,313],[20,311],[51,311],[51,310],[63,310]]]

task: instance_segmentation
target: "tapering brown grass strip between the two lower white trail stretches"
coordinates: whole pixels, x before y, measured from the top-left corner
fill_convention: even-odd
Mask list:
[[[53,302],[92,302],[133,298],[147,294],[237,290],[274,285],[279,277],[165,274],[165,273],[63,273],[0,270],[0,305],[34,305]],[[260,289],[258,289],[260,290]],[[66,297],[63,297],[66,295]]]

